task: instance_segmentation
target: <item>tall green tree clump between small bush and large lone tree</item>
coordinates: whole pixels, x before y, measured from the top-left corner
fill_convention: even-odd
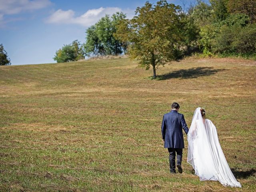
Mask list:
[[[85,54],[93,55],[118,55],[126,50],[126,43],[118,41],[114,37],[117,24],[126,16],[117,12],[111,17],[106,15],[96,24],[86,30],[86,43],[84,44]]]

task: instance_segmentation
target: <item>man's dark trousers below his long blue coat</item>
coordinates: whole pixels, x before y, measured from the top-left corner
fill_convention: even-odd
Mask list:
[[[170,161],[170,172],[176,172],[175,171],[175,156],[177,153],[177,165],[181,165],[182,161],[182,148],[168,148],[169,152],[169,161]]]

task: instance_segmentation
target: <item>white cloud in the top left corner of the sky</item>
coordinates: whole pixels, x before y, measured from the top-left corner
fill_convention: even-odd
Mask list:
[[[50,0],[0,0],[0,14],[18,14],[50,5]]]

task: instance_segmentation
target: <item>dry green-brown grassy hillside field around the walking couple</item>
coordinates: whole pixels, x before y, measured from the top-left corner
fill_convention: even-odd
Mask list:
[[[256,62],[187,58],[152,70],[128,58],[0,66],[0,191],[255,191]],[[170,175],[161,122],[206,108],[242,189]]]

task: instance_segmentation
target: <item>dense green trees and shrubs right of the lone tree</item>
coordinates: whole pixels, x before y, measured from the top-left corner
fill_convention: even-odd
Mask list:
[[[198,0],[188,17],[199,28],[198,46],[204,56],[254,54],[254,0]],[[248,27],[247,27],[248,26]]]

